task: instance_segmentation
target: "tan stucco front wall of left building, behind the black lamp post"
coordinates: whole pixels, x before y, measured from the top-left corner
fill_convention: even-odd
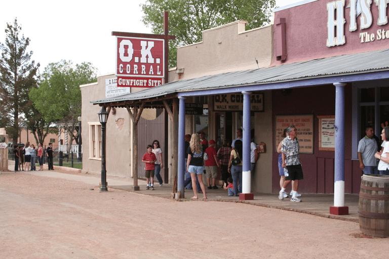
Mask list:
[[[101,159],[90,158],[90,128],[88,122],[98,122],[98,105],[90,102],[105,98],[105,79],[114,78],[114,74],[97,78],[97,83],[81,85],[82,94],[82,138],[83,138],[83,170],[101,172]],[[106,124],[106,170],[107,175],[131,176],[131,136],[130,116],[126,109],[116,108],[116,113],[109,114]]]

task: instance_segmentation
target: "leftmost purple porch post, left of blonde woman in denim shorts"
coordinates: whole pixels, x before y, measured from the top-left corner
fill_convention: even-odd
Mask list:
[[[185,97],[178,97],[178,166],[177,166],[177,192],[184,195],[185,170],[184,156],[185,153]],[[184,197],[182,197],[184,198]]]

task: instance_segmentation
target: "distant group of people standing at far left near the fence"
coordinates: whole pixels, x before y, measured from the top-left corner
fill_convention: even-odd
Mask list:
[[[53,144],[49,143],[46,154],[49,161],[49,170],[54,170],[53,168]],[[36,171],[35,163],[38,161],[40,169],[43,170],[43,154],[44,149],[42,143],[38,143],[38,146],[35,147],[34,144],[26,142],[24,145],[14,145],[14,155],[15,155],[15,171]],[[51,162],[51,163],[50,163]]]

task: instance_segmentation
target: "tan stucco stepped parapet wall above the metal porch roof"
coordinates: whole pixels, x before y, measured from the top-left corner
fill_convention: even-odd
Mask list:
[[[269,66],[273,25],[245,31],[245,24],[236,21],[205,30],[203,42],[178,48],[177,68],[184,68],[181,79],[255,69],[255,58],[260,68]]]

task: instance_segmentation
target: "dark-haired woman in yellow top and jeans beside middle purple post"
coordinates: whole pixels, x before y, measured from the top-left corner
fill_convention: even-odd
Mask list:
[[[228,162],[228,171],[232,175],[232,180],[234,181],[234,193],[235,196],[239,196],[239,193],[242,193],[242,153],[243,153],[243,143],[242,141],[235,141],[235,149],[231,151],[231,155],[229,156]],[[239,158],[241,162],[239,164],[232,164],[232,160]],[[239,181],[239,185],[238,185]]]

